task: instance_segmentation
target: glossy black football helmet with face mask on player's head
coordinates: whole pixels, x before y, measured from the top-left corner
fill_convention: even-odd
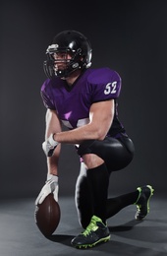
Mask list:
[[[55,69],[54,53],[70,53],[70,60],[58,60],[66,62],[66,68],[63,70]],[[43,69],[46,76],[50,79],[53,77],[67,78],[77,69],[86,69],[91,65],[91,45],[88,39],[81,32],[64,31],[59,32],[54,38],[51,45],[46,50],[47,60],[43,63]]]

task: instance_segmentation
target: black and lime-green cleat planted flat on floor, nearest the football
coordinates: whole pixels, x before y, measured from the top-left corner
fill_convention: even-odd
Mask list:
[[[110,239],[110,231],[101,219],[93,216],[85,230],[73,238],[72,245],[78,249],[86,249],[95,246],[100,242],[107,242]]]

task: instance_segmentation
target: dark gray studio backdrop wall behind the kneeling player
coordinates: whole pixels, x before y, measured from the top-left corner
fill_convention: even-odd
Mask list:
[[[90,6],[91,4],[91,6]],[[92,67],[122,77],[120,120],[136,156],[111,176],[110,192],[150,183],[166,193],[167,2],[13,1],[0,3],[0,197],[36,197],[46,177],[42,63],[53,36],[83,32],[93,48]],[[60,194],[74,194],[79,159],[63,145]]]

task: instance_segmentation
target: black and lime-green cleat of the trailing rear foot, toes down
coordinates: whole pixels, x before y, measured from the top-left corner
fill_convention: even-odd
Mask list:
[[[154,189],[150,185],[138,187],[139,198],[135,205],[137,205],[137,213],[135,219],[141,221],[149,213],[149,200],[153,195]]]

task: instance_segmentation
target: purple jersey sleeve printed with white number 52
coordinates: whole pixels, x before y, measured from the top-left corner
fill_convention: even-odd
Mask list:
[[[96,73],[96,74],[95,74]],[[89,82],[92,90],[92,101],[98,102],[117,98],[121,92],[121,77],[109,68],[97,70]]]

